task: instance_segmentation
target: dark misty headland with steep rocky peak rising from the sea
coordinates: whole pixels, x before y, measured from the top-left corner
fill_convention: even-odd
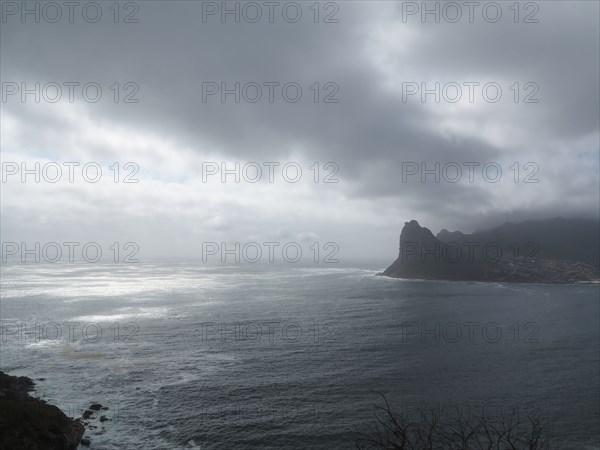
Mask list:
[[[399,256],[382,275],[395,278],[533,283],[600,278],[600,222],[556,217],[506,222],[436,236],[416,220],[400,234]]]

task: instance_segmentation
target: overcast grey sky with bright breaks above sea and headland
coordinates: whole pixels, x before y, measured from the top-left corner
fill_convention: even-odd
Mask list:
[[[412,219],[598,217],[598,2],[1,7],[3,254],[391,262]]]

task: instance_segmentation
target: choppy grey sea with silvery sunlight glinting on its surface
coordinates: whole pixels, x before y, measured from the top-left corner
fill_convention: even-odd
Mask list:
[[[598,286],[370,269],[5,265],[0,367],[108,406],[96,449],[352,448],[379,393],[537,408],[557,448],[600,448]]]

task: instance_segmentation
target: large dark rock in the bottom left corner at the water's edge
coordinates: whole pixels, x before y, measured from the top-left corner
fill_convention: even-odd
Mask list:
[[[31,397],[34,382],[0,371],[0,450],[74,450],[83,424]]]

